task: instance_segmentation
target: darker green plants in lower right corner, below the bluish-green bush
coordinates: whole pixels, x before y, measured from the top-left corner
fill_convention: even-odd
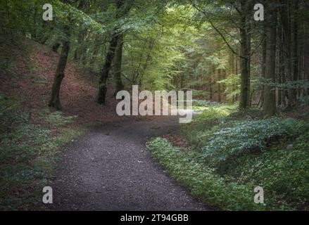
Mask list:
[[[258,182],[269,199],[309,210],[309,141],[305,132],[289,148],[274,146],[263,155],[247,155],[231,169],[241,184]]]

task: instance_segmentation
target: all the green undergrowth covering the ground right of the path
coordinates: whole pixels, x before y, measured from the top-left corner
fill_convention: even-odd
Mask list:
[[[160,165],[208,205],[222,210],[309,210],[309,124],[264,118],[258,108],[208,104],[181,128],[189,147],[147,146]],[[253,202],[254,188],[265,205]]]

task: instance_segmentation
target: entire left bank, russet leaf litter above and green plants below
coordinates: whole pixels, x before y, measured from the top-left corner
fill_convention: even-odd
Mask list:
[[[54,178],[56,160],[87,124],[125,120],[115,113],[113,90],[106,106],[96,87],[68,63],[61,87],[63,112],[47,107],[58,54],[23,39],[0,39],[0,210],[42,210],[42,188]],[[89,77],[89,76],[88,76]]]

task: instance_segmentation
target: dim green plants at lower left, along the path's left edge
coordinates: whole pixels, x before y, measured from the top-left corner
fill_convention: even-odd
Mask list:
[[[54,136],[50,129],[32,124],[21,105],[0,96],[0,210],[42,209],[42,187],[53,175],[58,148],[83,132],[68,129]],[[51,113],[46,119],[64,126],[72,117]]]

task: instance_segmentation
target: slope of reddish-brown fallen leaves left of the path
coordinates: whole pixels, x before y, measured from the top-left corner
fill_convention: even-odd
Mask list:
[[[19,46],[11,45],[10,48],[4,45],[0,51],[1,59],[5,59],[1,60],[4,63],[0,72],[0,93],[22,96],[23,106],[32,111],[35,120],[36,113],[46,108],[49,101],[58,53],[30,40],[23,40]],[[96,87],[77,72],[72,62],[68,63],[61,86],[63,113],[76,115],[81,124],[119,120],[115,113],[117,101],[112,96],[113,91],[109,91],[106,106],[96,104]]]

